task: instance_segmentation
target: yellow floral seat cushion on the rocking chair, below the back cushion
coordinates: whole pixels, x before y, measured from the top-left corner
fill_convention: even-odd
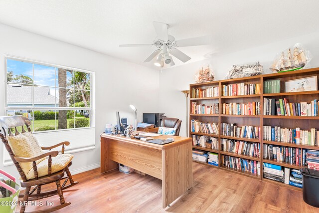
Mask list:
[[[51,174],[63,170],[71,162],[72,158],[73,155],[71,154],[59,154],[56,157],[52,157]],[[38,163],[36,167],[39,178],[48,175],[48,158]],[[25,175],[27,180],[33,179],[33,168],[30,169],[29,172],[25,173]]]

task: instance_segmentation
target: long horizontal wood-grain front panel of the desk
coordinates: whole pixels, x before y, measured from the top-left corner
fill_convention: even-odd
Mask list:
[[[110,140],[110,159],[162,180],[161,150]]]

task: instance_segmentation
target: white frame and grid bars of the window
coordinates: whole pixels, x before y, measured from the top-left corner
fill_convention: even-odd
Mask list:
[[[95,73],[92,71],[88,71],[88,70],[84,70],[84,69],[79,69],[79,68],[74,68],[74,67],[68,67],[68,66],[63,66],[63,65],[57,65],[57,64],[52,64],[52,63],[46,63],[46,62],[41,62],[41,61],[36,61],[36,60],[30,60],[30,59],[26,59],[26,58],[20,58],[20,57],[15,57],[15,56],[11,56],[11,55],[4,55],[4,66],[5,66],[5,87],[4,87],[4,110],[5,113],[7,113],[8,110],[32,110],[32,112],[34,110],[89,110],[90,111],[90,127],[81,127],[81,128],[75,128],[75,122],[74,122],[74,128],[72,129],[56,129],[56,130],[48,130],[48,131],[38,131],[38,132],[33,132],[33,133],[44,133],[44,132],[54,132],[54,131],[74,131],[74,130],[80,130],[80,129],[88,129],[88,128],[95,128],[95,110],[94,110],[94,98],[95,95],[93,94],[93,88],[94,88],[94,83],[95,83]],[[32,91],[32,106],[21,106],[21,107],[16,107],[16,106],[7,106],[7,59],[12,59],[12,60],[18,60],[18,61],[22,61],[22,62],[27,62],[27,63],[32,63],[32,69],[33,69],[33,75],[32,75],[32,90],[34,89],[34,64],[39,64],[39,65],[44,65],[44,66],[50,66],[50,67],[55,67],[56,68],[62,68],[62,69],[69,69],[72,71],[79,71],[79,72],[85,72],[90,74],[90,107],[34,107],[34,103],[33,103],[33,95],[34,92]],[[74,74],[73,74],[74,77]],[[40,85],[39,85],[40,86]],[[47,87],[47,88],[51,88],[50,86],[41,86],[41,87]],[[55,80],[55,89],[58,89],[59,87],[56,87],[56,80]],[[62,87],[61,87],[62,88]],[[74,91],[76,90],[74,88],[73,85],[73,89]],[[73,102],[74,102],[74,96],[73,96]],[[32,118],[34,119],[34,115],[32,113]],[[57,122],[57,120],[55,119],[55,122]],[[57,125],[57,124],[56,124]],[[56,126],[55,125],[55,126]],[[32,131],[33,131],[33,122],[32,122]]]

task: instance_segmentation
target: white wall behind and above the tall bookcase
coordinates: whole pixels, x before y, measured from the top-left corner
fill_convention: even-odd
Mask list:
[[[265,73],[269,73],[276,54],[293,46],[295,43],[303,44],[313,55],[311,67],[319,67],[319,32],[294,37],[287,40],[245,49],[238,52],[213,55],[211,58],[182,66],[172,67],[160,72],[160,111],[167,117],[176,117],[182,120],[180,135],[186,135],[186,103],[185,96],[180,90],[189,89],[189,84],[195,83],[195,73],[202,64],[211,64],[215,72],[214,80],[225,79],[227,72],[233,65],[256,63],[264,66]],[[262,43],[262,40],[260,41]],[[180,48],[182,50],[182,48]],[[177,60],[177,59],[176,59]],[[189,99],[188,99],[189,100]]]

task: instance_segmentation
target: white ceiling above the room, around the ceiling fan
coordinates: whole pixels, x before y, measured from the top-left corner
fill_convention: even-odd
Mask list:
[[[318,0],[0,0],[0,23],[155,69],[143,63],[155,47],[119,47],[152,43],[153,21],[168,23],[176,40],[211,35],[211,45],[179,48],[189,63],[318,31],[318,8]]]

